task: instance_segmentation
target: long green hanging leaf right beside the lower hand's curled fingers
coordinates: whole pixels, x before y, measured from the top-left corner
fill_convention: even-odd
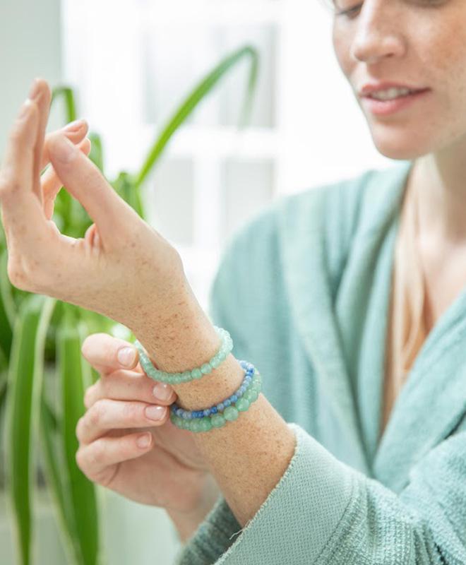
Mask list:
[[[56,367],[61,382],[63,419],[61,441],[64,449],[64,480],[69,490],[73,510],[74,539],[77,562],[97,565],[100,562],[100,524],[95,484],[90,482],[76,463],[78,439],[76,424],[85,412],[84,392],[92,383],[89,367],[81,353],[86,327],[79,319],[76,307],[64,305],[64,317],[57,332]]]

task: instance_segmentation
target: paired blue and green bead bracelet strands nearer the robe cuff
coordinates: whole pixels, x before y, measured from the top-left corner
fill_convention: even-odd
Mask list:
[[[173,403],[170,405],[172,423],[191,432],[208,432],[213,427],[220,428],[225,426],[227,421],[236,420],[239,412],[248,410],[261,392],[262,378],[253,364],[246,361],[239,363],[244,369],[244,379],[237,391],[217,405],[204,410],[184,410],[179,408],[177,403]]]

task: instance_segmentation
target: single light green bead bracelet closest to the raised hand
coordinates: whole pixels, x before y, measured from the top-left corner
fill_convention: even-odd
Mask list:
[[[217,369],[220,363],[225,361],[227,355],[233,349],[233,341],[227,330],[225,330],[224,328],[218,328],[217,326],[214,326],[214,328],[222,339],[217,353],[215,353],[210,361],[201,365],[201,367],[196,367],[196,369],[192,369],[191,371],[184,371],[182,373],[167,373],[165,371],[155,369],[153,363],[150,361],[147,353],[143,349],[143,346],[138,340],[136,340],[134,342],[134,345],[136,345],[138,349],[139,360],[141,362],[141,367],[145,371],[145,374],[150,376],[150,378],[154,379],[155,381],[162,381],[163,383],[169,384],[179,384],[187,383],[189,381],[193,381],[194,379],[201,379],[202,376],[212,372],[212,369]]]

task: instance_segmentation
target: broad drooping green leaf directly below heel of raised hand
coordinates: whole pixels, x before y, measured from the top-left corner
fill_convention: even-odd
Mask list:
[[[56,300],[30,295],[13,332],[6,396],[6,481],[18,563],[34,562],[32,504],[36,430],[44,372],[44,341]]]

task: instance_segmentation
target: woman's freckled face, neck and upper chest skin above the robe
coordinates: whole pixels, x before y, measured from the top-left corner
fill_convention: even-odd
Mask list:
[[[335,1],[333,47],[355,95],[378,81],[431,88],[386,116],[372,114],[357,96],[377,150],[414,160],[406,194],[417,202],[431,328],[466,285],[466,2]]]

